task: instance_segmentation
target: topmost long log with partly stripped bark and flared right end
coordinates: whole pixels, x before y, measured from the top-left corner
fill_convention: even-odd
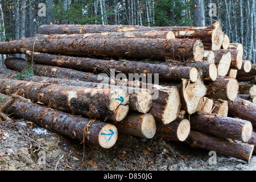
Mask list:
[[[126,32],[126,31],[173,31],[176,38],[200,39],[204,47],[212,50],[221,48],[224,33],[221,30],[220,21],[207,27],[144,27],[144,26],[125,26],[125,25],[99,25],[99,24],[52,24],[42,25],[38,28],[39,34],[86,34],[101,32]]]

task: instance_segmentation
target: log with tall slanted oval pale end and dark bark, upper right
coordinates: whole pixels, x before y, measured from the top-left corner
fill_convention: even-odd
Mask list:
[[[218,70],[218,76],[226,76],[229,71],[229,67],[232,60],[232,55],[230,52],[219,52],[215,53],[215,64]]]

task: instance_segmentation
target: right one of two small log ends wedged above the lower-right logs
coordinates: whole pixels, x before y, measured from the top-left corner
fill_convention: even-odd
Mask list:
[[[228,117],[228,101],[224,100],[213,100],[212,113]]]

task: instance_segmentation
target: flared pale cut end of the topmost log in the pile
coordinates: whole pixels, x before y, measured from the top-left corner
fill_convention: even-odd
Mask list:
[[[215,22],[213,26],[215,28],[212,31],[212,50],[218,51],[220,50],[224,40],[224,32],[221,30],[220,21]]]

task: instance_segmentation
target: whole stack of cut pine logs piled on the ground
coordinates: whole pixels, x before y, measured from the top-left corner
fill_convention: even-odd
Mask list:
[[[160,137],[249,162],[256,65],[206,27],[43,25],[0,42],[1,111],[104,148]],[[239,82],[238,82],[239,81]]]

